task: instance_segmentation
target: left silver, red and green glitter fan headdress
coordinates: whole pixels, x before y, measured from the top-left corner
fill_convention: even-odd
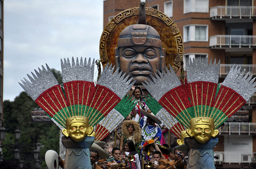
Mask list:
[[[134,107],[124,97],[134,82],[129,84],[132,79],[118,73],[119,68],[113,73],[114,68],[107,64],[95,86],[91,59],[88,64],[83,58],[79,63],[72,57],[72,64],[69,59],[61,60],[64,89],[47,64],[46,68],[35,70],[36,75],[31,72],[33,78],[27,74],[31,82],[24,78],[19,84],[60,129],[66,128],[68,117],[86,116],[89,126],[95,128],[95,140],[102,140]]]

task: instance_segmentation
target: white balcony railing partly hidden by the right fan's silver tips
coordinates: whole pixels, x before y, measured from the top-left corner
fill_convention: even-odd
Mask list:
[[[220,76],[227,75],[233,65],[234,64],[220,64]],[[256,75],[256,65],[236,64],[236,66],[241,67],[241,72],[245,69],[245,73],[250,72],[250,74]]]

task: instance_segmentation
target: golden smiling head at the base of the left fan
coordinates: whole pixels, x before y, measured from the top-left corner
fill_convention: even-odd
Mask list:
[[[66,120],[67,129],[63,129],[62,133],[66,137],[70,137],[75,142],[83,141],[87,135],[93,133],[93,127],[89,127],[88,118],[85,116],[72,116]]]

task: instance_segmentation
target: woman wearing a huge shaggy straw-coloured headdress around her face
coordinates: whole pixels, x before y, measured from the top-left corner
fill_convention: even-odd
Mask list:
[[[122,124],[121,131],[120,150],[124,148],[124,142],[126,140],[132,140],[136,151],[139,152],[139,146],[141,143],[141,129],[139,123],[134,120],[125,120]]]

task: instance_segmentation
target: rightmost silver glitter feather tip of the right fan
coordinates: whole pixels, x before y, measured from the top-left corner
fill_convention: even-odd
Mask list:
[[[232,66],[222,86],[232,88],[241,95],[245,101],[248,101],[256,92],[256,83],[253,83],[255,77],[252,79],[252,75],[249,76],[249,72],[244,75],[245,70],[239,74],[240,69],[241,68],[235,67],[235,65]]]

